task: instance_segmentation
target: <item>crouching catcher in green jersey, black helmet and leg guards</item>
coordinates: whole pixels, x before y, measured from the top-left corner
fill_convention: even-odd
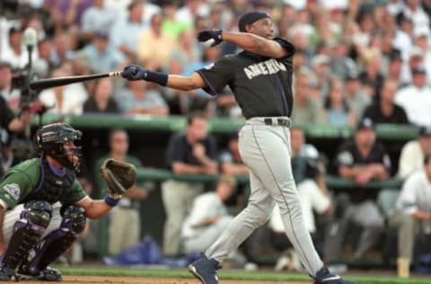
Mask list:
[[[75,179],[81,131],[66,123],[38,129],[40,157],[17,164],[0,180],[0,280],[62,280],[49,263],[65,253],[86,217],[107,214],[136,182],[133,164],[107,159],[101,174],[109,195],[92,200]]]

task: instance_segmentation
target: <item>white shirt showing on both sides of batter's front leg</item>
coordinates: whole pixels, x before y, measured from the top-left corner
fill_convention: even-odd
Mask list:
[[[316,231],[316,223],[312,209],[316,210],[319,214],[325,212],[330,208],[330,198],[324,195],[317,186],[317,183],[310,179],[298,184],[298,192],[303,207],[305,227],[310,233],[314,233]],[[286,232],[278,206],[274,207],[269,219],[269,227],[276,232]]]

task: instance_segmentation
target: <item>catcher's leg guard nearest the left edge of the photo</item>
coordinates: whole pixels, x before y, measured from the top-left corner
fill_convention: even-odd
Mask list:
[[[20,219],[13,225],[11,241],[4,253],[4,266],[15,269],[27,257],[45,233],[51,216],[52,208],[47,201],[31,200],[24,205]]]

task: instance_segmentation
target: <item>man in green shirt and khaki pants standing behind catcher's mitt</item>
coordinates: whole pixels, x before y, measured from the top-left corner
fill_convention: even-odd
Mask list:
[[[136,167],[142,166],[139,159],[128,154],[128,133],[124,129],[112,129],[110,131],[110,153],[102,156],[96,161],[94,174],[100,176],[100,168],[103,161],[107,158],[114,158],[118,161],[125,161],[135,164]],[[106,189],[106,183],[97,179],[99,191]],[[141,237],[141,220],[139,217],[139,200],[144,200],[148,192],[138,185],[133,186],[123,196],[119,206],[112,209],[109,226],[109,251],[119,253],[132,244],[136,244]]]

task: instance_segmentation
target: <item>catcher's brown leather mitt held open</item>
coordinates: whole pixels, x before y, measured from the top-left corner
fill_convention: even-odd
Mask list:
[[[109,158],[101,164],[101,176],[108,183],[110,195],[122,195],[136,182],[136,166]]]

